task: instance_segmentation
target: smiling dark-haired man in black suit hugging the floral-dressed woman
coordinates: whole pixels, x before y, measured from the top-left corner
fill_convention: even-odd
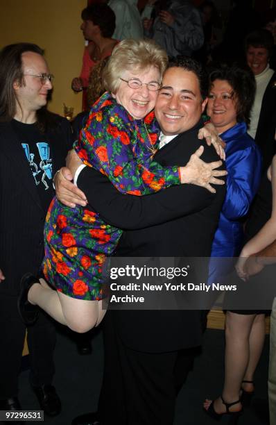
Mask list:
[[[155,160],[183,165],[200,146],[206,76],[198,63],[187,59],[172,64],[162,84],[155,115],[165,145]],[[202,157],[207,162],[218,159],[212,147],[205,147]],[[107,223],[123,228],[116,256],[210,255],[223,186],[217,186],[215,194],[196,185],[180,185],[148,197],[131,197],[119,194],[105,176],[86,167],[78,174],[78,188]],[[191,350],[200,345],[201,331],[196,310],[109,310],[104,319],[99,416],[83,415],[73,424],[96,424],[96,419],[105,425],[172,424],[175,398],[193,363]]]

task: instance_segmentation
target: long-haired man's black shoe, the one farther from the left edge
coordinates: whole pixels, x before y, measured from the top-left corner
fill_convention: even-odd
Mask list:
[[[60,397],[55,392],[53,385],[41,385],[41,387],[33,387],[33,390],[40,403],[40,407],[46,415],[59,415],[61,410]]]

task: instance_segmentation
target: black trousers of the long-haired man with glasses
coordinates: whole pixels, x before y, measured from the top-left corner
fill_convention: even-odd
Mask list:
[[[32,385],[49,384],[53,379],[55,327],[46,313],[40,310],[33,326],[28,326]],[[17,311],[17,297],[0,293],[0,399],[14,397],[18,392],[18,374],[26,326]]]

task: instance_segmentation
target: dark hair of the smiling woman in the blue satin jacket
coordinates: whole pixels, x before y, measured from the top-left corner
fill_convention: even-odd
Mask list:
[[[209,72],[209,91],[215,80],[227,81],[233,89],[233,96],[236,99],[236,120],[245,121],[250,124],[250,110],[252,108],[256,81],[253,72],[248,65],[234,63],[232,65],[221,64],[212,65]]]

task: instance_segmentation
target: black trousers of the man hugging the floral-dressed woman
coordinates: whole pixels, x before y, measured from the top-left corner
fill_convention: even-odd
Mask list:
[[[99,401],[104,425],[173,424],[175,399],[193,365],[194,351],[144,353],[123,344],[112,315],[103,323],[105,369]]]

